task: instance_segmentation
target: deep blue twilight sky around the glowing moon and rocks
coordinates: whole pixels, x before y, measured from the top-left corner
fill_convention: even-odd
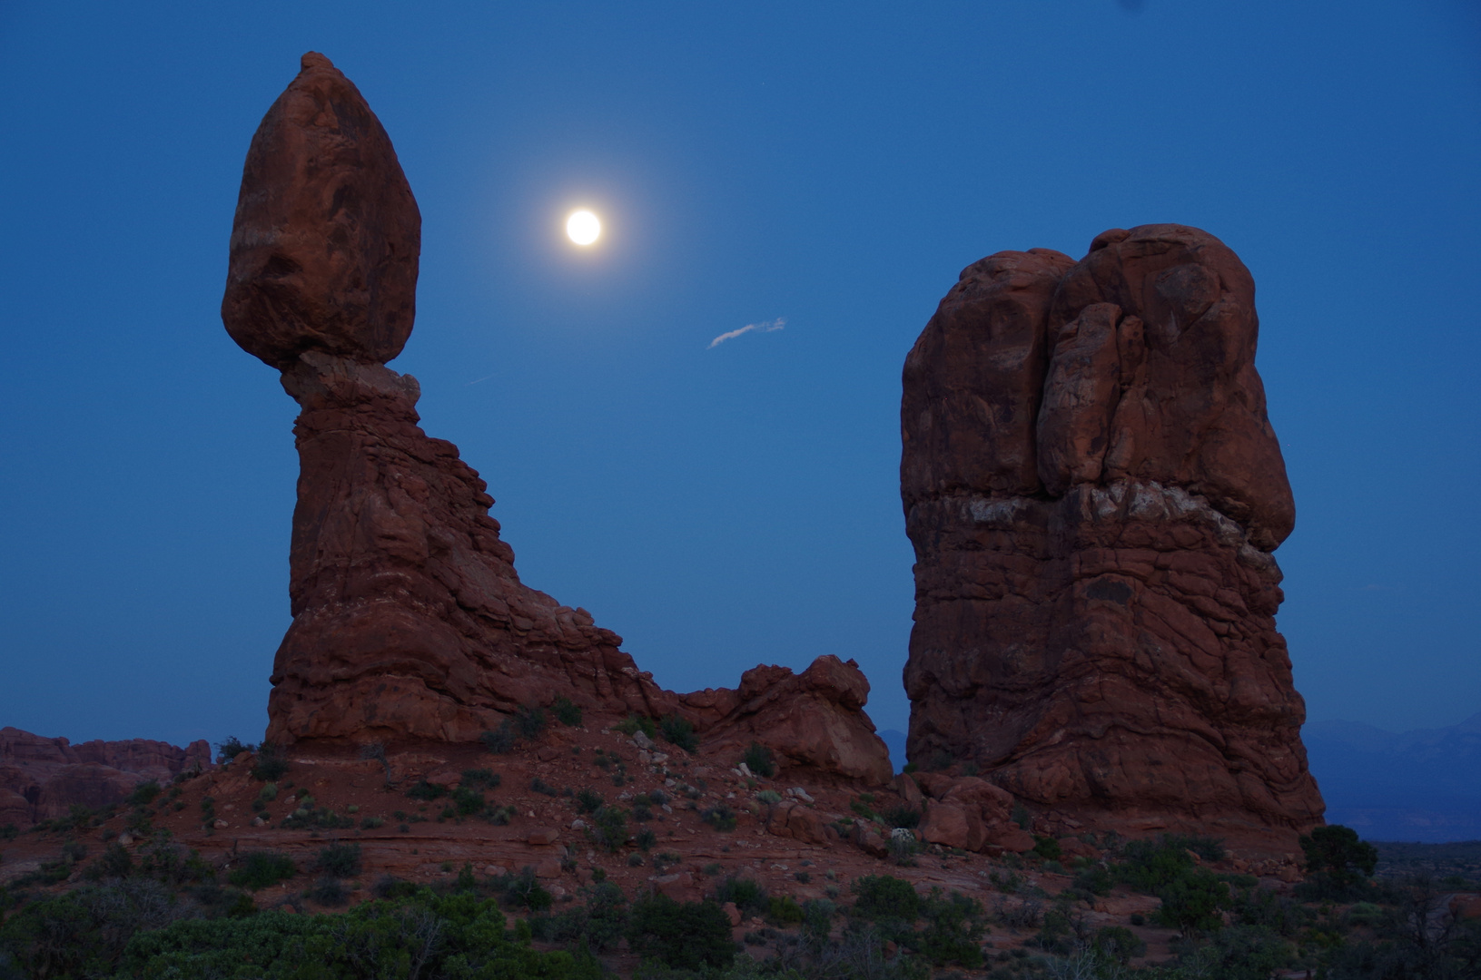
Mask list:
[[[0,724],[265,725],[295,406],[218,305],[247,142],[308,49],[422,207],[392,366],[424,428],[524,580],[662,684],[835,653],[903,728],[905,352],[983,255],[1183,222],[1259,284],[1311,718],[1481,711],[1472,3],[12,0]],[[561,244],[575,204],[597,253]]]

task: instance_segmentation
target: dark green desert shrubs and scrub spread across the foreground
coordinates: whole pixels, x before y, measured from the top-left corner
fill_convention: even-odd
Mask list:
[[[483,795],[498,782],[487,770],[469,770],[459,791],[432,798],[459,811],[467,793],[472,810],[487,805]],[[145,789],[129,805],[170,805],[169,792]],[[629,835],[628,811],[584,793],[594,844],[626,848],[629,862],[652,863],[658,873],[683,865],[680,854],[661,850],[650,828]],[[967,971],[986,980],[1269,980],[1308,970],[1321,980],[1481,977],[1481,922],[1459,919],[1447,905],[1451,893],[1478,884],[1469,866],[1444,865],[1447,873],[1437,878],[1435,867],[1416,865],[1422,856],[1405,853],[1408,867],[1374,879],[1383,853],[1346,828],[1305,838],[1306,879],[1283,891],[1213,867],[1223,856],[1219,841],[1164,835],[1102,839],[1099,860],[1069,857],[1060,842],[1040,839],[1029,854],[992,865],[985,885],[997,894],[986,900],[917,891],[892,875],[840,888],[826,884],[832,872],[812,867],[794,878],[825,878],[828,897],[800,902],[749,878],[721,878],[720,866],[708,865],[702,873],[712,891],[684,903],[644,888],[624,894],[604,875],[557,902],[533,867],[481,878],[469,865],[444,865],[446,878],[431,888],[385,875],[361,884],[360,847],[332,838],[302,866],[280,853],[249,851],[213,867],[163,830],[132,853],[116,842],[90,853],[71,835],[96,817],[78,811],[52,822],[50,832],[64,838],[58,856],[0,887],[0,980],[595,980],[606,970],[595,956],[624,947],[643,958],[634,976],[647,980],[946,980]],[[936,848],[920,857],[951,856]],[[1072,884],[1059,896],[1019,873],[1060,862]],[[576,867],[575,851],[563,866]],[[80,884],[44,891],[68,878]],[[1112,888],[1157,896],[1160,907],[1146,919],[1093,922],[1090,905]],[[357,899],[367,900],[341,910]],[[258,907],[270,902],[280,907]],[[761,962],[735,958],[724,903],[764,921],[745,934],[746,944],[766,947]],[[511,922],[509,913],[521,918]],[[1176,931],[1170,958],[1143,962],[1143,927]]]

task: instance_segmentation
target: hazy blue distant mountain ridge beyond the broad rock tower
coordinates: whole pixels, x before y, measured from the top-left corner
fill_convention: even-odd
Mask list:
[[[1374,841],[1481,839],[1481,714],[1403,733],[1317,721],[1302,740],[1328,823]]]

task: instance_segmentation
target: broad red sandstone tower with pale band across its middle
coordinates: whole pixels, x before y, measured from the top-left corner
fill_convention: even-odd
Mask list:
[[[903,375],[911,759],[970,761],[1052,828],[1293,850],[1320,823],[1256,336],[1250,272],[1194,228],[963,271]]]

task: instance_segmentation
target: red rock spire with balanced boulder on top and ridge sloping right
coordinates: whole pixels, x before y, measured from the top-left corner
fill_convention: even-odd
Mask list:
[[[717,752],[758,740],[783,765],[887,780],[852,665],[758,668],[739,691],[681,699],[585,610],[520,582],[484,483],[418,428],[416,379],[384,366],[412,332],[419,241],[379,120],[305,55],[247,151],[222,301],[227,332],[302,409],[293,623],[267,737],[469,742],[564,696],[607,715],[683,714]]]

